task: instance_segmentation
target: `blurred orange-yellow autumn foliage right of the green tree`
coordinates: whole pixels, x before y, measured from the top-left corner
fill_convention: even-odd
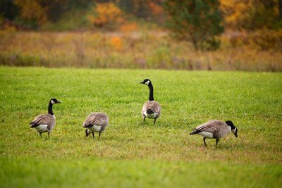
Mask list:
[[[282,23],[281,0],[221,0],[224,26],[229,30],[277,29]]]

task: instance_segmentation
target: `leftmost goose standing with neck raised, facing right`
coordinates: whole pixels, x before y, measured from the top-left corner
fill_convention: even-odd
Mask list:
[[[60,104],[61,102],[57,99],[51,99],[49,101],[48,106],[48,113],[46,114],[40,114],[35,117],[34,120],[30,123],[31,128],[35,128],[37,132],[39,133],[40,137],[42,137],[43,132],[48,132],[48,137],[50,136],[50,133],[53,129],[53,127],[56,124],[56,118],[53,113],[53,104]]]

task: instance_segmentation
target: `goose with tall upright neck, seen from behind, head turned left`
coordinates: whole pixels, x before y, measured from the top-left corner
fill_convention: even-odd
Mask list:
[[[154,119],[155,124],[157,118],[161,115],[161,106],[159,106],[157,101],[154,101],[154,88],[151,80],[145,79],[140,84],[146,84],[149,87],[149,101],[145,102],[141,111],[143,124],[145,123],[145,118]]]

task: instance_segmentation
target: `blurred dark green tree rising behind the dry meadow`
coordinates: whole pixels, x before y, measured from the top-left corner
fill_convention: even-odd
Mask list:
[[[218,0],[164,0],[168,28],[180,39],[190,40],[195,50],[217,49],[216,35],[223,32]]]

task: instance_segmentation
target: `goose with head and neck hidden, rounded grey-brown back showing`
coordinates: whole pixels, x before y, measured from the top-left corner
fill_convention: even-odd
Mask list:
[[[109,118],[108,115],[106,115],[106,113],[102,113],[102,112],[90,113],[90,115],[88,115],[88,117],[83,122],[83,128],[86,128],[85,130],[86,137],[88,137],[90,132],[92,132],[94,139],[94,132],[99,132],[98,139],[100,139],[102,132],[106,130],[108,124],[109,124]]]

